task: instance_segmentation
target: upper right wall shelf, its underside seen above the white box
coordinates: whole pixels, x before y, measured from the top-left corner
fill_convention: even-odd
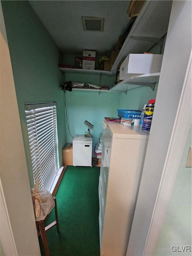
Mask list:
[[[113,66],[110,74],[115,74],[118,64],[129,53],[147,52],[167,33],[172,1],[146,1],[136,18]]]

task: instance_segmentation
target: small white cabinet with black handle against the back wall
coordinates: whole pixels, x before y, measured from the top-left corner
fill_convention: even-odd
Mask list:
[[[92,167],[93,138],[75,135],[73,139],[73,166]]]

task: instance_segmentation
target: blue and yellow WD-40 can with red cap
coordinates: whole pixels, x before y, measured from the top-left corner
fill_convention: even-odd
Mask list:
[[[154,103],[155,103],[155,100],[149,100],[147,106],[145,107],[145,115],[144,115],[144,119],[143,119],[142,130],[150,131],[150,129],[151,129]]]

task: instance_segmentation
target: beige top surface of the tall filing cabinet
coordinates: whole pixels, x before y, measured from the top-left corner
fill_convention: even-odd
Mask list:
[[[142,130],[142,126],[125,126],[120,123],[107,123],[111,136],[119,139],[148,140],[149,132]]]

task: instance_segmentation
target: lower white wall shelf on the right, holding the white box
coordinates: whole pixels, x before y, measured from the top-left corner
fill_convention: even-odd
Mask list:
[[[143,75],[133,75],[124,79],[113,88],[109,90],[109,92],[125,92],[128,90],[135,89],[141,86],[149,86],[151,88],[154,87],[154,84],[159,81],[160,73],[152,73],[152,74],[143,74]]]

